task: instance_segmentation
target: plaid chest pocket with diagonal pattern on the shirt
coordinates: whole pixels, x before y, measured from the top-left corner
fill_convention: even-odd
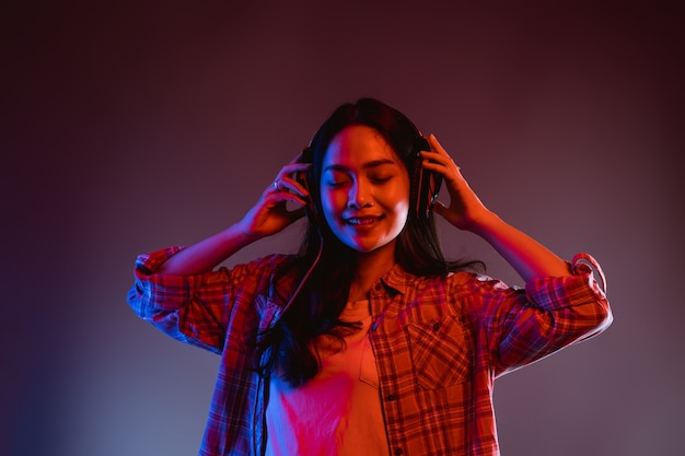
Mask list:
[[[473,349],[458,317],[450,315],[408,326],[414,373],[426,389],[467,382]]]

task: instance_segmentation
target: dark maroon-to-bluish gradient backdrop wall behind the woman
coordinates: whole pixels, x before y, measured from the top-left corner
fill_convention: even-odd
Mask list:
[[[0,14],[0,454],[196,454],[219,358],[136,318],[133,259],[236,221],[362,95],[607,273],[607,332],[498,381],[503,455],[685,454],[677,2],[96,3]],[[231,262],[292,252],[301,227]]]

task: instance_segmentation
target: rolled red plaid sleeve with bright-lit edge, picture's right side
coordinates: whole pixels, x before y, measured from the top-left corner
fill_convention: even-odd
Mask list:
[[[538,361],[611,325],[600,265],[590,255],[579,254],[569,266],[570,276],[534,278],[525,290],[507,289],[492,300],[494,305],[486,306],[496,375]]]

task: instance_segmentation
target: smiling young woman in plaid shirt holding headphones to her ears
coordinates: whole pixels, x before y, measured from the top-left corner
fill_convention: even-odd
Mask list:
[[[427,211],[440,180],[449,204]],[[305,213],[299,255],[218,268]],[[445,260],[433,213],[525,289]],[[362,98],[237,223],[141,255],[128,301],[221,355],[200,455],[497,455],[495,378],[606,328],[603,282],[589,255],[564,261],[488,210],[433,136]]]

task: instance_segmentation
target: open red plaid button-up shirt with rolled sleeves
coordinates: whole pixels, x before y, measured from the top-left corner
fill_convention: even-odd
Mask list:
[[[255,335],[279,317],[297,285],[292,277],[274,278],[291,257],[201,276],[155,274],[178,249],[138,257],[128,302],[169,336],[221,355],[199,454],[262,455],[268,382],[251,371]],[[525,290],[466,272],[417,277],[400,267],[371,289],[369,337],[391,454],[499,454],[495,378],[611,324],[605,293],[583,258],[601,274],[579,255],[573,276],[536,278]]]

